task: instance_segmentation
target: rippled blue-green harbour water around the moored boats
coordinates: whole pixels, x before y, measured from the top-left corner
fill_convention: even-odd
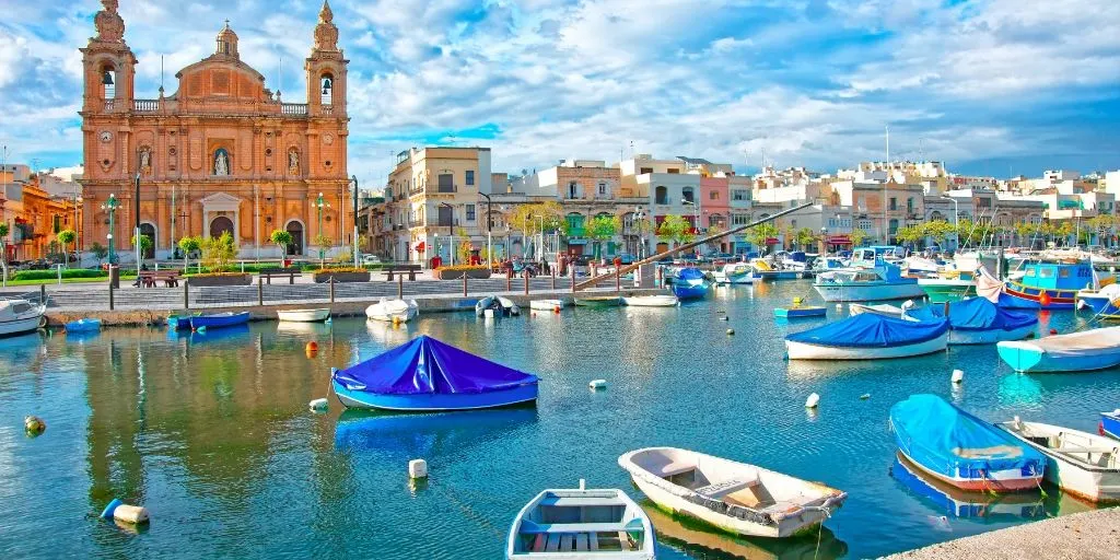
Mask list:
[[[193,337],[144,328],[0,339],[0,502],[8,507],[0,551],[501,558],[513,515],[542,488],[586,478],[642,497],[616,459],[654,445],[757,463],[850,494],[820,535],[790,542],[730,539],[657,515],[659,558],[864,558],[1089,508],[1047,488],[1046,498],[948,516],[889,474],[887,411],[931,392],[992,421],[1019,414],[1095,431],[1098,412],[1120,407],[1120,371],[1024,376],[993,347],[791,363],[782,336],[821,324],[775,321],[773,307],[797,296],[815,299],[796,281],[720,289],[680,308],[577,308],[497,323],[459,314],[401,328],[336,319]],[[725,314],[729,321],[719,320]],[[837,317],[832,307],[829,314]],[[1066,332],[1083,320],[1052,312],[1042,328]],[[330,366],[418,333],[539,374],[538,407],[402,417],[343,413],[333,401],[328,414],[307,411],[326,394]],[[308,357],[312,339],[319,352]],[[954,367],[965,372],[960,388],[949,381]],[[599,377],[608,389],[589,391]],[[812,392],[820,409],[806,412]],[[24,435],[28,413],[46,420],[44,436]],[[417,457],[431,470],[419,486],[407,476]],[[97,520],[113,497],[146,505],[150,526],[137,534]]]

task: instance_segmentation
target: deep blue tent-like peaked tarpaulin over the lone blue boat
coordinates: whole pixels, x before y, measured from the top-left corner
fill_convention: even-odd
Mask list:
[[[335,372],[347,385],[374,394],[485,393],[536,384],[536,376],[495,364],[421,335],[380,356]]]

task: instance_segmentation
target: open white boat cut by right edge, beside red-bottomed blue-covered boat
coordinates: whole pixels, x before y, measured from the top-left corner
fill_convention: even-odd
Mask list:
[[[1120,502],[1120,441],[1018,417],[999,427],[1046,456],[1052,484],[1090,502]]]

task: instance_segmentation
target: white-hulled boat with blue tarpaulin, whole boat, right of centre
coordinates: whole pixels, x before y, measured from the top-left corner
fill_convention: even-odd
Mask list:
[[[944,351],[949,321],[860,314],[785,337],[790,360],[885,360]]]

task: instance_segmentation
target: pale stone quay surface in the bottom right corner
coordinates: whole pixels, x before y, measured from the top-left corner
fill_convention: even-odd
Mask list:
[[[1117,560],[1120,507],[1064,515],[956,539],[887,560]]]

